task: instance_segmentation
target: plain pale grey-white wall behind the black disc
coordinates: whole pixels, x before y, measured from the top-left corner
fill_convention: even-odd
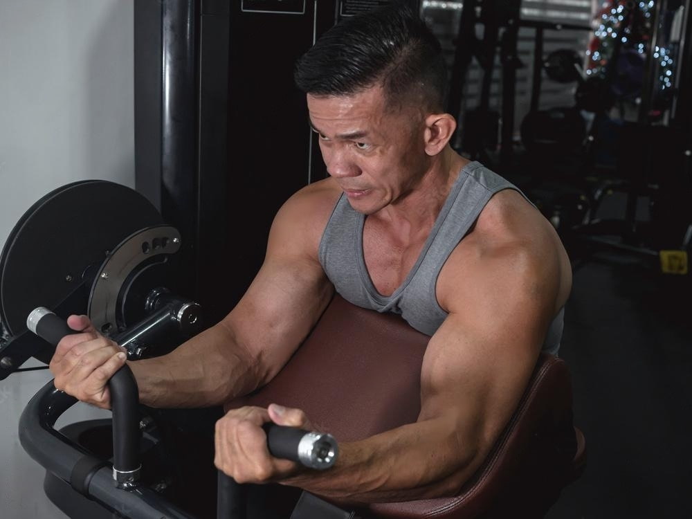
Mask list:
[[[131,0],[0,0],[0,246],[61,185],[134,186],[133,52]],[[65,517],[17,439],[21,410],[50,379],[42,371],[0,381],[3,518]],[[58,425],[107,415],[78,404]]]

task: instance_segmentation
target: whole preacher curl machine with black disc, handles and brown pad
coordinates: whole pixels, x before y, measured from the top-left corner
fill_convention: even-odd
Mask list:
[[[181,247],[176,229],[122,185],[78,182],[40,199],[12,230],[0,261],[0,378],[21,371],[30,356],[50,361],[51,343],[71,333],[64,320],[72,313],[88,315],[132,360],[169,352],[201,331],[199,304],[178,295]],[[335,437],[354,441],[416,421],[428,340],[399,316],[336,295],[275,379],[228,408],[271,402],[301,408],[334,436],[272,428],[268,448],[277,457],[329,468],[338,454]],[[181,502],[184,487],[172,482],[162,424],[170,416],[138,404],[127,366],[109,387],[112,421],[55,430],[76,401],[52,382],[26,406],[19,438],[46,468],[46,495],[73,518],[194,518]],[[291,519],[540,517],[584,466],[567,367],[542,354],[490,455],[453,497],[344,511],[304,492]],[[244,503],[250,489],[220,473],[217,489],[217,518],[259,517]]]

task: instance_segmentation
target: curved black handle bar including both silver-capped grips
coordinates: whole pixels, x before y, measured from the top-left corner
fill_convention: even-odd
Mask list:
[[[78,333],[43,307],[30,313],[27,327],[53,345],[57,345],[68,334]],[[117,337],[113,340],[118,342]],[[132,489],[136,486],[141,466],[138,388],[129,366],[124,365],[111,377],[109,390],[113,410],[112,477],[120,489]],[[82,493],[113,509],[127,509],[132,517],[189,519],[188,514],[148,489],[138,487],[138,497],[132,499],[131,493],[114,491],[110,478],[104,482],[107,468],[102,467],[84,448],[53,428],[57,418],[76,401],[74,397],[55,389],[53,382],[31,399],[19,422],[20,441],[27,453],[58,477],[71,482]],[[275,424],[267,424],[264,429],[269,452],[275,457],[291,459],[319,470],[329,468],[336,461],[338,446],[331,435]],[[91,470],[84,471],[84,466]],[[75,481],[75,473],[78,473],[81,481]],[[244,502],[237,483],[219,471],[218,485],[217,517],[244,519]],[[161,516],[162,511],[167,515]]]

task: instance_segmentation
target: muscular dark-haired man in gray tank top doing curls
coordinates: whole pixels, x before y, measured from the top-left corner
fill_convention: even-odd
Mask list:
[[[166,356],[130,363],[140,399],[214,406],[266,384],[336,289],[432,336],[417,421],[342,444],[334,468],[318,473],[266,449],[260,426],[309,428],[300,410],[232,410],[217,423],[217,466],[239,482],[340,501],[450,495],[507,424],[540,350],[556,352],[570,262],[516,188],[450,147],[441,49],[415,14],[383,8],[336,26],[295,78],[330,178],[286,201],[260,272],[224,320]],[[122,352],[86,318],[69,324],[85,333],[57,347],[55,385],[108,407]]]

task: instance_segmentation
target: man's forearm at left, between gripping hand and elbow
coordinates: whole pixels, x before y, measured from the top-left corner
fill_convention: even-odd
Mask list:
[[[157,408],[216,406],[257,387],[253,359],[223,325],[170,354],[129,363],[140,401]]]

